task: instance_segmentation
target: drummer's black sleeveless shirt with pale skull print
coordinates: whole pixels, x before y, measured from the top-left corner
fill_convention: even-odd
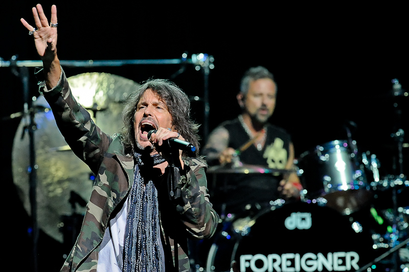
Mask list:
[[[238,118],[225,121],[220,126],[229,131],[229,147],[238,149],[250,140]],[[265,128],[267,134],[262,150],[253,144],[239,155],[240,161],[246,165],[284,169],[289,156],[290,135],[271,124],[266,124]],[[282,175],[265,173],[220,174],[216,177],[217,188],[212,195],[212,202],[219,214],[242,214],[247,213],[248,207],[252,210],[255,207],[268,207],[270,201],[279,198],[277,188],[281,179]]]

